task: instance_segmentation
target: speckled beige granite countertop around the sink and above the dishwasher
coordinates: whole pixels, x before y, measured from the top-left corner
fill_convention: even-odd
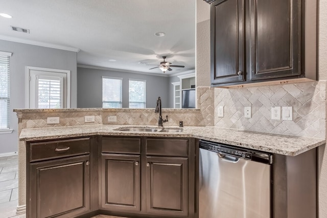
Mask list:
[[[118,131],[122,127],[140,127],[135,125],[84,125],[68,127],[26,128],[22,129],[19,140],[35,141],[80,137],[92,135],[106,136],[156,136],[156,137],[193,137],[213,142],[240,146],[274,154],[296,156],[325,144],[325,139],[307,138],[269,133],[250,132],[238,129],[221,128],[214,126],[185,126],[182,132],[125,132]],[[144,127],[144,126],[142,126]],[[157,126],[147,126],[158,128]],[[164,128],[179,128],[165,126]]]

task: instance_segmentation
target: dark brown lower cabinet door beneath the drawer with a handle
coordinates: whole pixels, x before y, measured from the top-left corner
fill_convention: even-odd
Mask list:
[[[90,208],[89,155],[30,164],[29,217],[75,217]]]

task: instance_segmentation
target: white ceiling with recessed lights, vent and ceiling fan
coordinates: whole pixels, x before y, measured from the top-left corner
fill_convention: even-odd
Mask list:
[[[0,13],[13,16],[0,17],[0,39],[79,51],[80,65],[162,74],[139,62],[167,56],[185,68],[166,74],[195,69],[194,0],[0,0]]]

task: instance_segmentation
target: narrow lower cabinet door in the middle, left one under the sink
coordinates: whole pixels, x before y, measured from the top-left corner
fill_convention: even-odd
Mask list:
[[[102,208],[141,210],[139,155],[102,154]]]

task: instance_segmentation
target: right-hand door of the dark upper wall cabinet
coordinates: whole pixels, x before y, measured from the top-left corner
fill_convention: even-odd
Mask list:
[[[250,80],[300,75],[300,1],[250,0],[247,7]]]

